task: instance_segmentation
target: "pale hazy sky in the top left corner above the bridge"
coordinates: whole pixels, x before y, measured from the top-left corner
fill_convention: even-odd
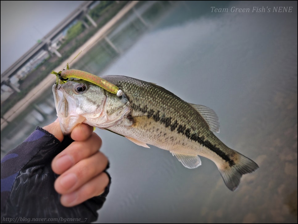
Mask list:
[[[84,1],[1,1],[1,74]]]

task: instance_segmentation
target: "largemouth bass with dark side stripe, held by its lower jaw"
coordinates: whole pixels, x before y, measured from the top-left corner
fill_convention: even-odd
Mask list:
[[[242,175],[259,168],[215,136],[219,121],[212,109],[187,103],[151,82],[119,75],[101,78],[123,94],[113,94],[80,78],[53,85],[64,135],[70,134],[77,124],[85,123],[122,135],[139,146],[168,150],[189,169],[199,167],[199,156],[203,156],[215,163],[231,191],[238,188]]]

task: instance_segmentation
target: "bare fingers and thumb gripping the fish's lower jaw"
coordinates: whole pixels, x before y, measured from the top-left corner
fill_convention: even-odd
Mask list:
[[[64,139],[58,120],[43,129],[60,142]],[[55,181],[55,190],[62,195],[60,202],[66,207],[101,195],[109,184],[109,177],[104,172],[108,159],[99,151],[101,138],[93,133],[93,127],[79,124],[70,137],[74,142],[52,161],[52,170],[60,175]]]

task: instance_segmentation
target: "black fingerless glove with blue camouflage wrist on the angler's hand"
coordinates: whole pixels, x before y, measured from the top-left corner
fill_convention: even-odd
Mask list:
[[[63,142],[46,130],[36,130],[1,161],[1,223],[90,223],[106,201],[105,192],[80,205],[64,207],[54,189],[58,177],[52,159],[73,140]],[[108,168],[108,167],[107,167]],[[110,178],[110,175],[108,175]]]

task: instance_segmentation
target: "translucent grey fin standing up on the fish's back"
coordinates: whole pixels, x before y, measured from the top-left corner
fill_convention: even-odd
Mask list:
[[[190,104],[199,114],[203,117],[203,119],[207,122],[209,129],[211,131],[219,133],[219,121],[216,113],[210,109],[209,107],[205,107],[203,105]]]

